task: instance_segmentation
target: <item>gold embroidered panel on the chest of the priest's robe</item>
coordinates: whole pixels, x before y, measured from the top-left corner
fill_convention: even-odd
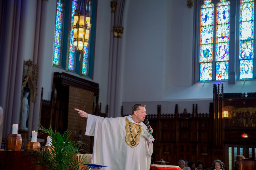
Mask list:
[[[129,127],[129,120],[125,119],[125,122],[126,122],[126,125],[125,125],[125,130],[126,130],[126,136],[125,136],[125,142],[127,143],[127,145],[129,145],[131,148],[134,148],[135,146],[138,145],[138,143],[140,142],[140,133],[141,133],[141,128],[140,128],[140,131],[138,132],[138,128],[140,125],[137,125],[135,123],[132,123],[131,122],[131,130],[132,130],[132,135],[130,133],[130,127]],[[131,141],[133,140],[132,139],[132,136],[135,137],[136,134],[138,132],[138,135],[137,137],[134,139],[134,141],[136,142],[136,144],[134,146],[131,145]]]

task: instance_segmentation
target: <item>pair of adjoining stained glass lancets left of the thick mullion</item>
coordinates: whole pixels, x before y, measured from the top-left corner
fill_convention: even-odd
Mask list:
[[[200,81],[229,78],[229,41],[230,2],[220,0],[215,7],[211,0],[205,0],[200,12]],[[216,71],[214,78],[213,69]]]

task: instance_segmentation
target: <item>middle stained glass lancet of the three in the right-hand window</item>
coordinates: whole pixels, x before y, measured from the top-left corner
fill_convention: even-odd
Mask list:
[[[227,80],[229,72],[230,2],[220,0],[216,9],[216,80]]]

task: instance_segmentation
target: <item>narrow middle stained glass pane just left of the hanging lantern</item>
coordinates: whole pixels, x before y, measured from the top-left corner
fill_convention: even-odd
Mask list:
[[[75,10],[77,9],[78,2],[73,0],[72,1],[72,11],[71,11],[71,26],[70,26],[70,40],[69,40],[69,57],[68,57],[68,69],[74,70],[75,68],[75,54],[76,54],[76,47],[74,46],[74,37],[73,37],[73,22],[74,22],[74,15]]]

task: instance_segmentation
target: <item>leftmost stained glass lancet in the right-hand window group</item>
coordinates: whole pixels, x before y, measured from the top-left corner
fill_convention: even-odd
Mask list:
[[[214,4],[205,0],[200,15],[200,81],[212,80]]]

